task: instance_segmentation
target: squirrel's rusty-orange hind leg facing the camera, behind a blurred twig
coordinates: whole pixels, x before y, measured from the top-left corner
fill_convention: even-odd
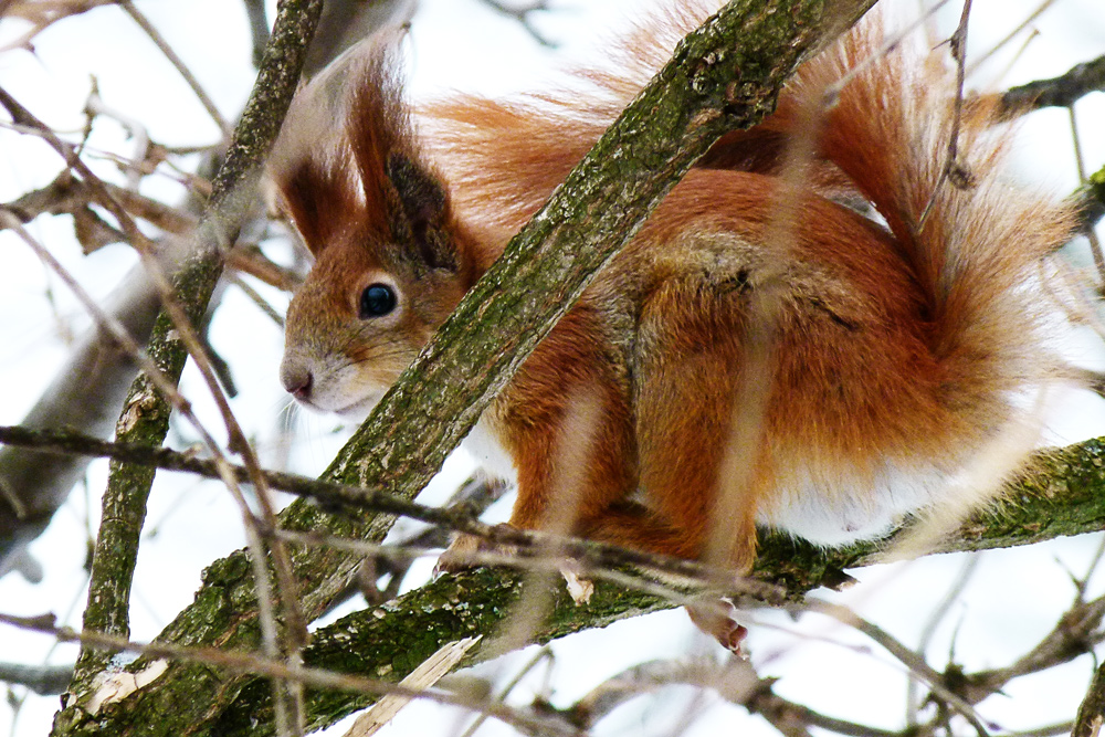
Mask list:
[[[664,552],[740,575],[751,570],[756,516],[770,491],[769,397],[756,396],[749,376],[746,313],[746,291],[728,281],[671,280],[642,313],[638,357],[640,485],[680,540]]]

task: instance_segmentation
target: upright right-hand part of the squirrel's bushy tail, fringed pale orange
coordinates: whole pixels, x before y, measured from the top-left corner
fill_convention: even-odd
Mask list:
[[[869,14],[800,69],[765,125],[785,129],[802,119],[800,105],[822,106],[818,157],[885,220],[928,299],[946,401],[986,427],[998,418],[988,402],[972,408],[978,398],[1008,400],[1059,370],[1049,327],[1056,303],[1040,287],[1075,213],[1053,194],[1010,186],[999,101],[968,93],[957,110],[946,46],[888,33]]]

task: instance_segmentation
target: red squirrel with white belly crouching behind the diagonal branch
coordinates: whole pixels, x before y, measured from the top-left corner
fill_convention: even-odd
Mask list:
[[[271,165],[315,256],[287,391],[364,415],[701,4],[654,15],[570,92],[411,108],[393,38],[314,82]],[[941,180],[947,50],[884,36],[862,21],[719,140],[484,412],[467,442],[516,480],[509,524],[548,528],[570,483],[566,531],[747,572],[757,525],[840,545],[957,494],[1069,375],[1046,256],[1071,209],[1007,181],[985,97],[959,123],[969,181]]]

